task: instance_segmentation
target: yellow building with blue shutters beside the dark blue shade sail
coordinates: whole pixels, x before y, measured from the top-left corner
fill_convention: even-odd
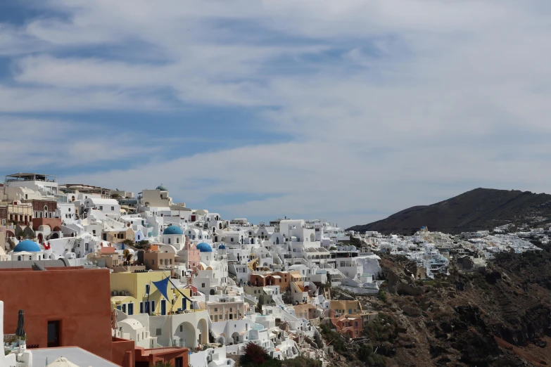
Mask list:
[[[167,277],[170,277],[170,271],[111,273],[111,309],[120,309],[127,315],[166,315],[171,311],[174,313],[191,309],[189,300],[191,290],[179,288],[178,291],[169,282],[166,289],[168,300],[166,300],[153,284]]]

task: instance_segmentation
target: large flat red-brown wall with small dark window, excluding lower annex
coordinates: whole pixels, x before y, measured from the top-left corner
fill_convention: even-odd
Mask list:
[[[110,283],[108,269],[2,269],[4,333],[17,328],[25,311],[27,344],[48,345],[48,321],[61,321],[61,347],[76,346],[111,360]]]

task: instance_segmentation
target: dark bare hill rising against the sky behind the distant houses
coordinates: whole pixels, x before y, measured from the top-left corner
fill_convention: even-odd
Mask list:
[[[427,226],[430,231],[457,234],[481,231],[502,224],[522,224],[532,217],[551,217],[551,195],[529,191],[476,188],[432,205],[419,205],[351,231],[410,235]]]

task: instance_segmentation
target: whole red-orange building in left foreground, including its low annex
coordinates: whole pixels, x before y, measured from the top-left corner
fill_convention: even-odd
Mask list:
[[[0,269],[0,300],[4,334],[15,333],[18,311],[25,312],[28,346],[80,347],[123,367],[188,365],[187,348],[144,349],[111,337],[109,269]]]

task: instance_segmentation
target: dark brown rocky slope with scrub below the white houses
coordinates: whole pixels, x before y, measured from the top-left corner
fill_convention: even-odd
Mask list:
[[[414,281],[409,266],[381,260],[386,289],[357,297],[379,321],[335,347],[335,365],[551,366],[551,246],[434,281]]]

